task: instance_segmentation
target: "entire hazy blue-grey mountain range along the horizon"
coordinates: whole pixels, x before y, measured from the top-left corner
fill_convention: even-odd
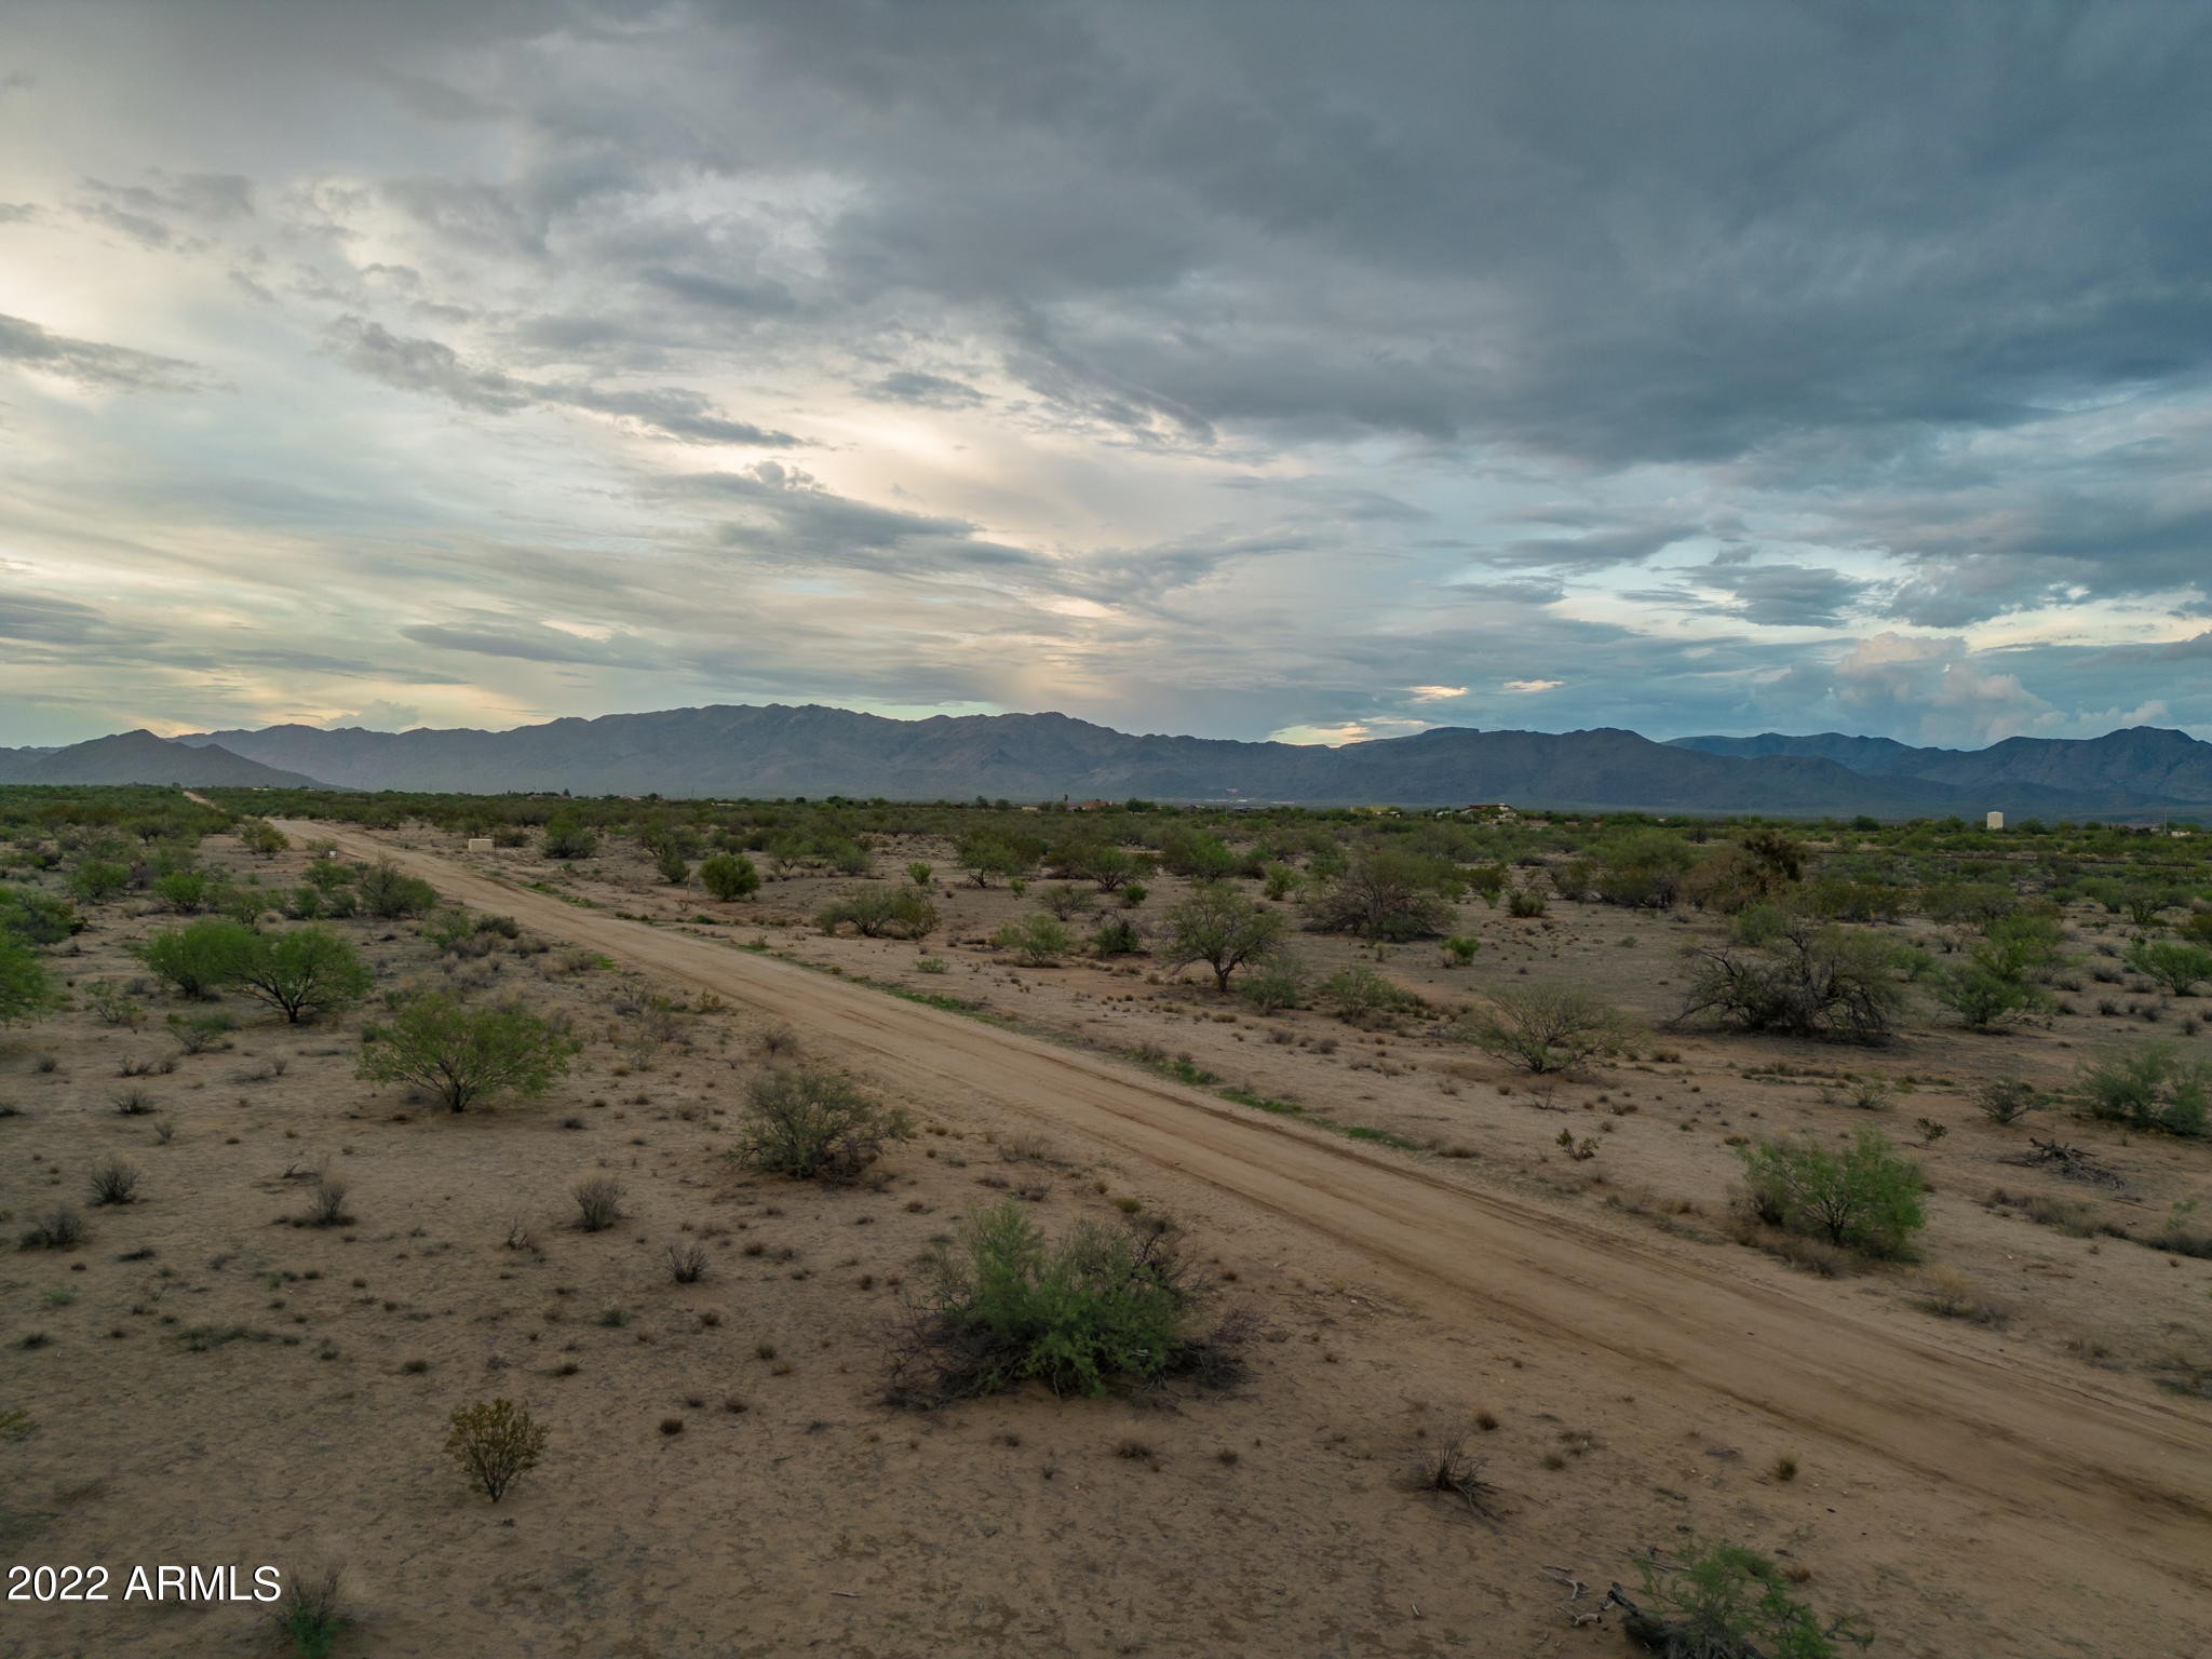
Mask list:
[[[1325,748],[1135,737],[1066,714],[896,721],[843,708],[717,706],[557,719],[509,732],[268,726],[62,750],[0,750],[0,783],[199,783],[343,790],[566,790],[666,796],[1013,801],[1148,796],[1312,805],[1396,803],[2130,818],[2212,816],[2212,743],[2137,726],[2097,739],[2015,737],[1986,750],[1882,737],[1480,732]]]

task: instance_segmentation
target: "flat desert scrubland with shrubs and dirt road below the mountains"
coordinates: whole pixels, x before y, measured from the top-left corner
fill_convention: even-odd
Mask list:
[[[338,1655],[1601,1655],[1721,1546],[1827,1644],[1776,1652],[2212,1644],[2201,838],[0,832],[0,1559],[334,1571]],[[1024,1347],[991,1267],[1055,1261],[1121,1323]],[[498,1502],[491,1400],[544,1436]],[[290,1606],[11,1601],[0,1655]]]

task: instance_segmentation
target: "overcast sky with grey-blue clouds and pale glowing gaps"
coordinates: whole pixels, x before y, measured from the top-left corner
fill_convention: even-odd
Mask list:
[[[0,743],[2212,737],[2212,7],[9,0]]]

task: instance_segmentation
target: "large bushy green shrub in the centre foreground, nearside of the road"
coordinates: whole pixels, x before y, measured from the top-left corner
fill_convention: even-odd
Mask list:
[[[1190,1356],[1197,1303],[1161,1228],[1077,1221],[1046,1239],[1020,1203],[1000,1203],[938,1248],[891,1398],[936,1405],[1026,1380],[1106,1394],[1159,1378]]]

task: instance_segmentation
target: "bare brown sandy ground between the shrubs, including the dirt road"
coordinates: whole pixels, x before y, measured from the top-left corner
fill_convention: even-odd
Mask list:
[[[100,1066],[122,1046],[153,1053],[150,1033],[84,1022],[55,1073],[11,1057],[0,1088],[24,1117],[0,1124],[0,1203],[22,1217],[113,1146],[146,1166],[148,1197],[93,1212],[95,1237],[71,1259],[7,1259],[9,1332],[49,1334],[0,1352],[0,1407],[22,1400],[40,1425],[0,1447],[7,1559],[343,1559],[361,1626],[341,1652],[1551,1655],[1621,1650],[1610,1624],[1573,1626],[1593,1597],[1571,1601],[1562,1577],[1632,1584],[1637,1553],[1666,1557],[1694,1528],[1776,1551],[1818,1606],[1863,1613],[1878,1652],[2212,1646],[2212,1411],[2062,1343],[2201,1334],[2205,1263],[2066,1239],[1953,1194],[2017,1150],[1962,1117],[1955,1088],[1902,1108],[1955,1124],[1931,1152],[1929,1254],[1966,1261],[1991,1294],[2004,1274],[2037,1292],[2035,1318],[2004,1332],[1916,1312],[1896,1274],[1827,1281],[1719,1239],[1730,1124],[1838,1121],[1816,1084],[1745,1079],[1745,1044],[1734,1068],[1681,1042],[1677,1060],[1531,1099],[1409,1037],[1378,1048],[1347,1033],[1323,1055],[1312,1018],[1221,1020],[1141,973],[1006,975],[947,945],[953,973],[909,980],[960,995],[989,984],[993,1006],[1033,1026],[1015,1031],[737,951],[728,927],[681,929],[695,896],[617,883],[588,909],[524,889],[498,860],[338,838],[644,975],[531,980],[538,1000],[619,1024],[622,1002],[657,984],[730,1011],[688,1020],[650,1060],[595,1044],[555,1097],[469,1117],[372,1095],[343,1035],[254,1026],[239,1051],[179,1064],[199,1088],[155,1079],[188,1102],[159,1148],[106,1106]],[[759,911],[779,907],[779,887]],[[668,925],[622,920],[613,891]],[[880,978],[916,958],[781,940]],[[1666,962],[1659,945],[1635,949]],[[427,971],[407,940],[378,947],[392,973]],[[1575,969],[1582,951],[1575,971],[1641,975],[1663,998],[1666,967],[1586,929],[1500,931],[1489,947],[1491,975],[1515,951],[1542,971]],[[524,964],[504,971],[520,980]],[[1168,1000],[1108,1002],[1139,991]],[[719,1117],[754,1064],[750,1035],[776,1024],[942,1133],[900,1150],[880,1192],[734,1177]],[[1230,1082],[1462,1137],[1480,1157],[1310,1130],[1084,1046],[1164,1026],[1188,1033],[1170,1048]],[[1305,1044],[1265,1042],[1274,1029]],[[263,1053],[290,1060],[283,1077],[237,1093],[226,1079]],[[1836,1064],[1832,1051],[1801,1064],[1814,1060]],[[1960,1071],[1927,1044],[1909,1064],[1931,1062]],[[1610,1110],[1628,1099],[1635,1115]],[[1562,1113],[1577,1130],[1613,1126],[1597,1159],[1546,1164]],[[2141,1203],[2188,1190],[2163,1148],[2124,1155]],[[299,1208],[288,1172],[325,1157],[354,1183],[358,1225],[276,1225]],[[1593,1183],[1593,1164],[1637,1179]],[[586,1237],[562,1206],[595,1170],[624,1181],[630,1219]],[[1033,1194],[1053,1223],[1113,1214],[1113,1197],[1179,1219],[1223,1274],[1223,1301],[1265,1325],[1250,1383],[885,1409],[880,1334],[902,1276],[951,1217],[1004,1190]],[[1652,1225],[1677,1201],[1703,1219]],[[518,1225],[529,1248],[507,1245]],[[679,1287],[659,1252],[686,1234],[710,1241],[714,1267]],[[272,1340],[179,1352],[159,1318]],[[493,1391],[529,1400],[555,1433],[546,1467],[498,1509],[438,1451],[445,1411]],[[1478,1409],[1498,1422],[1473,1436],[1500,1489],[1495,1524],[1402,1480],[1418,1444],[1467,1431]],[[684,1427],[664,1433],[664,1420]],[[0,1604],[0,1655],[268,1650],[257,1619]]]

